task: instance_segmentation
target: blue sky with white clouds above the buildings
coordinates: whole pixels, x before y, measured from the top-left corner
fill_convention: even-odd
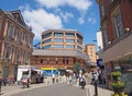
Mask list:
[[[51,28],[77,29],[84,36],[84,45],[95,44],[100,28],[96,0],[0,0],[0,9],[21,11],[35,34],[33,44]]]

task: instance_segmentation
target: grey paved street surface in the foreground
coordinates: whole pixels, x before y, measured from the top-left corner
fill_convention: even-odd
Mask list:
[[[94,96],[95,86],[87,85],[85,89],[73,84],[67,86],[66,83],[57,84],[32,84],[30,88],[22,88],[21,85],[2,86],[1,96]],[[111,96],[113,92],[98,87],[98,96]]]

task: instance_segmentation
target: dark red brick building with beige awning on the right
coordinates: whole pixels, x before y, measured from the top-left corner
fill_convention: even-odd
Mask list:
[[[107,84],[110,73],[120,70],[127,80],[127,92],[132,92],[132,0],[97,0],[100,11],[103,40],[103,63],[107,72]],[[128,81],[128,82],[127,82]],[[110,87],[110,86],[109,86]]]

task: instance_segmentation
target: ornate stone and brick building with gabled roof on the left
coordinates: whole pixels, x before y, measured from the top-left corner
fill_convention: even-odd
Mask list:
[[[18,65],[30,64],[33,37],[19,10],[0,10],[0,79],[15,79]]]

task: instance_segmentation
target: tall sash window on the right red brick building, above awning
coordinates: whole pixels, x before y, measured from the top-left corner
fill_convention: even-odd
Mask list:
[[[121,13],[117,14],[113,17],[113,22],[116,28],[116,36],[117,38],[119,38],[121,35],[123,35],[123,24],[122,24]]]

